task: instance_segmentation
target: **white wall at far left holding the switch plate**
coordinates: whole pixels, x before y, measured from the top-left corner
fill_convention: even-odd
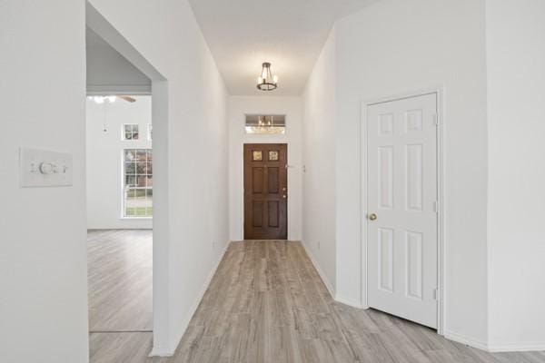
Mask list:
[[[0,2],[0,361],[86,362],[84,2]],[[19,147],[74,185],[19,188]]]

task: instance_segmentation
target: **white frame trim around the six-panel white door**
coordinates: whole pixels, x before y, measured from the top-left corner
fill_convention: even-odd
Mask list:
[[[437,216],[437,332],[444,335],[445,322],[445,235],[444,235],[444,150],[443,136],[445,132],[445,116],[444,116],[444,87],[437,86],[422,89],[419,91],[395,94],[387,97],[381,97],[369,101],[362,102],[362,135],[361,135],[361,304],[363,309],[369,309],[368,302],[368,242],[367,242],[367,185],[368,185],[368,162],[367,162],[367,111],[369,106],[377,103],[388,103],[402,99],[418,97],[426,94],[436,94],[437,96],[437,201],[439,201],[438,216]],[[363,183],[365,182],[365,183]]]

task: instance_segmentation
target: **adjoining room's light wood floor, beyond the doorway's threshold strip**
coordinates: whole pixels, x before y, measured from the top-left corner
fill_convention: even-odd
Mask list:
[[[87,233],[89,330],[153,329],[150,230]]]

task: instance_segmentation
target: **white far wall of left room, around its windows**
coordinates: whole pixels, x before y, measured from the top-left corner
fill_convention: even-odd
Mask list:
[[[153,221],[122,218],[124,149],[152,149],[148,125],[152,123],[152,97],[134,96],[136,102],[87,100],[87,228],[151,229]],[[138,124],[139,140],[122,139],[124,123]],[[104,132],[104,124],[107,132]]]

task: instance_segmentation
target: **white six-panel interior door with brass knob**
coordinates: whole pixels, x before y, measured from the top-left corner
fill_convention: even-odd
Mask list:
[[[437,93],[367,109],[368,304],[437,328]]]

